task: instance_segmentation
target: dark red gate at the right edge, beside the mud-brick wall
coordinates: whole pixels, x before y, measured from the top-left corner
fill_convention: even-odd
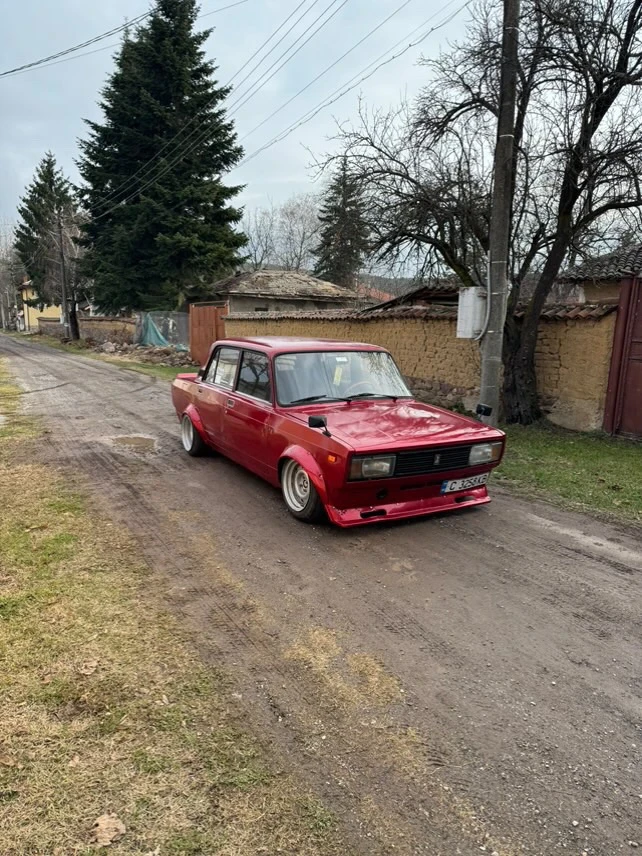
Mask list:
[[[642,282],[637,279],[622,288],[604,427],[642,439]]]

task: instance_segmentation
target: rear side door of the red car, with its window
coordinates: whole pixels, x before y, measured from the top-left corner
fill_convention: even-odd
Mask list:
[[[240,358],[239,348],[217,348],[212,354],[196,395],[196,409],[207,436],[217,449],[224,452],[229,448],[229,435],[225,430],[227,399],[236,383]]]

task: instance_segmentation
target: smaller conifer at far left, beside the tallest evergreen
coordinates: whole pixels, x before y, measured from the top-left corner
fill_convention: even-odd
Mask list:
[[[71,184],[47,152],[18,206],[15,237],[16,252],[41,305],[60,304],[56,230],[60,218],[68,218],[73,207]]]

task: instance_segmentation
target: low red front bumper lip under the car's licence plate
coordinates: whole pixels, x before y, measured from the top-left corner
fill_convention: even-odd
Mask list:
[[[424,496],[404,502],[382,503],[381,505],[369,505],[361,508],[335,508],[332,505],[327,505],[326,512],[330,521],[336,526],[349,527],[457,511],[470,506],[486,505],[488,502],[490,502],[490,497],[486,486],[484,486],[462,493]]]

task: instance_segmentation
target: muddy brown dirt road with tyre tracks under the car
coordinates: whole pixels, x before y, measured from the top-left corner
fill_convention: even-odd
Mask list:
[[[363,854],[642,847],[642,546],[495,490],[339,531],[188,458],[164,381],[0,336],[76,471],[140,541],[202,657]],[[245,856],[245,854],[243,854]]]

